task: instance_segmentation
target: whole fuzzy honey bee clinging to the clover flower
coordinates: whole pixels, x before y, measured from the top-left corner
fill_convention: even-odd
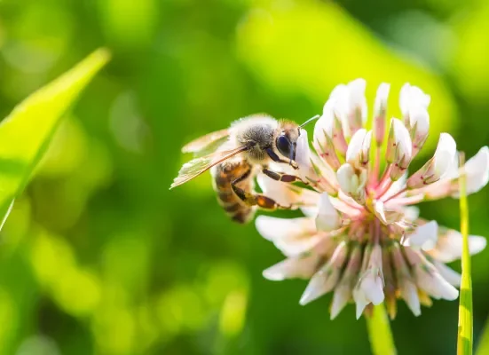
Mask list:
[[[210,169],[217,201],[233,221],[247,223],[257,207],[290,209],[256,193],[255,177],[261,170],[277,181],[299,180],[295,175],[270,170],[269,166],[273,162],[298,169],[296,142],[304,124],[299,126],[296,122],[256,114],[233,122],[228,129],[197,138],[182,148],[183,153],[193,153],[196,157],[183,165],[170,189]]]

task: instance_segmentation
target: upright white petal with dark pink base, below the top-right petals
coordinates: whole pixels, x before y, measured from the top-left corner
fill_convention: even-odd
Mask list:
[[[390,178],[398,180],[411,162],[413,145],[406,126],[396,118],[390,120],[389,138],[385,159],[392,164]]]

